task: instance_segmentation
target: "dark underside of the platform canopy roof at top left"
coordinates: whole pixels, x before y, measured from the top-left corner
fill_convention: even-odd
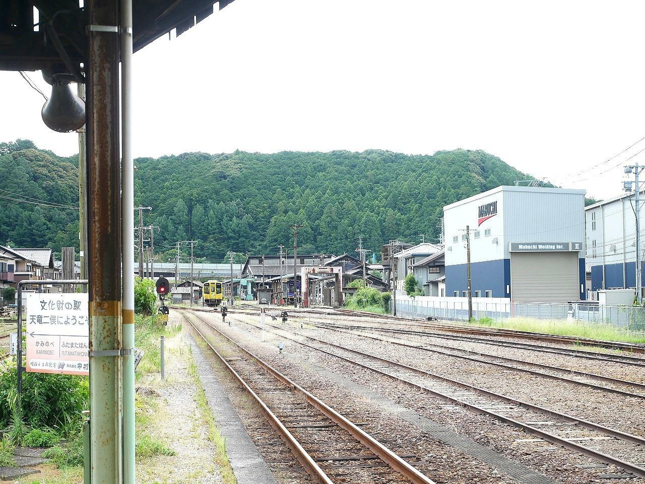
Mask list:
[[[216,3],[221,10],[232,2],[132,0],[135,52],[172,30],[183,34],[212,14]],[[0,70],[79,72],[78,66],[87,58],[86,32],[86,12],[79,8],[78,0],[3,0]]]

